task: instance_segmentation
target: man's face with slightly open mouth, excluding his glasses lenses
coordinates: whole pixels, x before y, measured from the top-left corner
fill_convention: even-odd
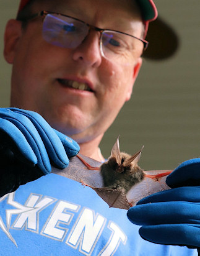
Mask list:
[[[103,29],[142,35],[142,21],[131,0],[59,0],[34,7],[34,12],[54,11],[81,19]],[[55,1],[53,1],[55,2]],[[83,143],[102,136],[131,96],[141,66],[124,66],[102,57],[100,33],[91,30],[75,49],[45,42],[41,18],[7,26],[4,56],[13,63],[11,106],[36,111],[64,134]],[[72,81],[92,91],[72,88]]]

